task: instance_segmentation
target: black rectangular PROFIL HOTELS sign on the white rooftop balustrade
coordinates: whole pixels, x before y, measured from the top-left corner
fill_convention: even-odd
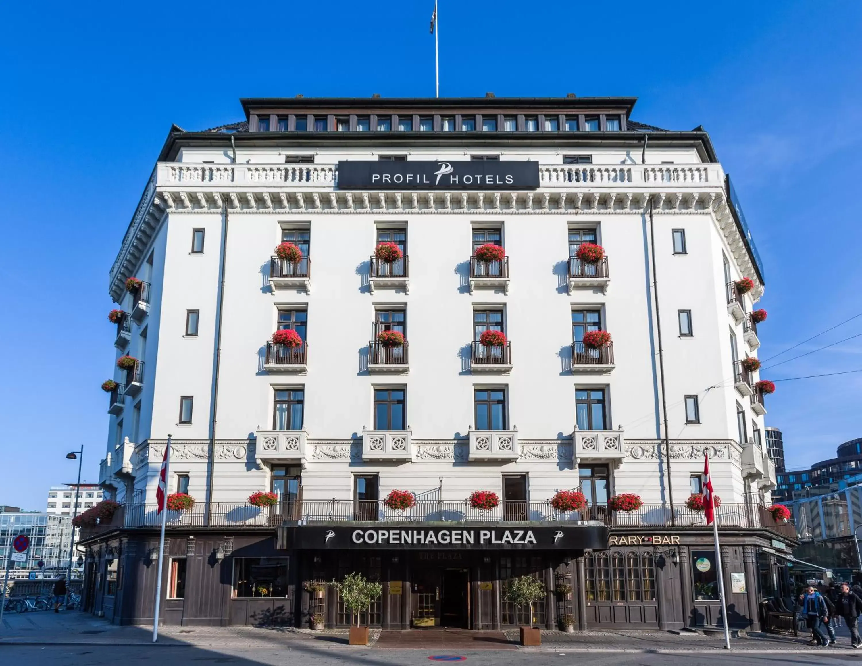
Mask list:
[[[339,162],[339,190],[535,190],[538,162]]]

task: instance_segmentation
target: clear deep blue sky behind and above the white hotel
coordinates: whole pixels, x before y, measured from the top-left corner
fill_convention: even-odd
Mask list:
[[[281,9],[273,9],[280,4]],[[433,0],[13,3],[0,43],[0,504],[96,481],[114,358],[108,270],[175,122],[240,96],[433,96]],[[10,28],[14,27],[14,28]],[[637,96],[633,118],[703,125],[765,261],[761,358],[862,312],[862,3],[440,0],[442,96]],[[862,333],[862,317],[793,352]],[[768,364],[765,364],[768,365]],[[862,338],[765,371],[862,368]],[[778,383],[789,464],[862,437],[862,373]]]

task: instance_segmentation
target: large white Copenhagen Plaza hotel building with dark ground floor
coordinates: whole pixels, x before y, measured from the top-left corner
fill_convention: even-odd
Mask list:
[[[363,619],[384,628],[517,625],[522,573],[552,590],[548,628],[715,625],[711,528],[686,507],[709,452],[730,621],[759,627],[794,534],[763,508],[743,367],[763,269],[709,135],[632,121],[634,103],[298,96],[173,127],[110,271],[132,360],[100,478],[125,507],[84,539],[94,612],[152,621],[170,434],[170,491],[196,503],[169,512],[166,623],[344,626],[334,590],[306,588],[359,570],[384,583]],[[576,258],[584,242],[605,258]],[[477,260],[486,244],[505,258]],[[274,345],[283,328],[302,345]],[[584,348],[596,329],[612,344]],[[587,508],[552,506],[578,488]],[[393,489],[415,506],[386,507]],[[614,511],[624,493],[643,506]]]

